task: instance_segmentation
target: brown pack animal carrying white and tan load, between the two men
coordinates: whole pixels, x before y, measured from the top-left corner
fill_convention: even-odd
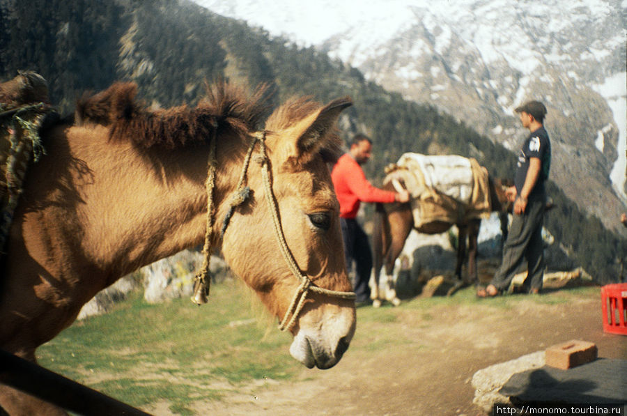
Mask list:
[[[421,155],[405,153],[386,168],[383,189],[407,189],[409,203],[378,204],[373,229],[373,306],[388,300],[399,305],[395,282],[395,263],[410,231],[438,234],[457,226],[458,247],[455,265],[456,283],[449,291],[477,280],[477,238],[481,219],[496,211],[502,213],[502,231],[506,233],[507,200],[502,180],[492,178],[477,160],[458,155]],[[466,242],[466,240],[468,240]],[[467,277],[462,276],[468,256]],[[380,289],[384,279],[385,289]]]

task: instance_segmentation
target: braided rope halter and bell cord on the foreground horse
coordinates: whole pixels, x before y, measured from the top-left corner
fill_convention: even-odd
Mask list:
[[[307,293],[309,291],[313,293],[320,293],[322,295],[332,296],[334,298],[342,298],[342,299],[355,299],[354,292],[343,292],[343,291],[332,291],[330,289],[321,288],[314,284],[314,282],[309,279],[308,276],[303,275],[292,252],[290,251],[287,242],[285,240],[285,236],[283,233],[283,228],[281,227],[281,221],[279,220],[279,207],[277,205],[276,199],[274,199],[274,193],[272,192],[272,180],[270,178],[270,164],[268,159],[268,153],[265,147],[265,130],[261,132],[255,132],[253,134],[253,141],[248,149],[246,154],[244,164],[242,166],[242,173],[240,174],[240,180],[238,181],[238,186],[231,197],[231,206],[229,207],[229,211],[226,213],[224,217],[224,223],[222,224],[222,236],[224,236],[224,231],[226,231],[226,227],[229,226],[229,221],[231,219],[231,215],[233,215],[233,211],[237,206],[239,206],[242,202],[244,202],[249,196],[249,187],[245,186],[248,166],[250,162],[250,158],[254,148],[259,143],[261,155],[256,158],[256,162],[261,164],[261,176],[263,179],[263,185],[265,190],[265,200],[268,201],[268,208],[270,209],[270,213],[272,213],[272,223],[274,224],[274,233],[277,237],[277,241],[279,242],[279,247],[281,249],[281,254],[283,255],[284,260],[286,261],[288,268],[291,270],[292,274],[300,281],[300,286],[298,286],[298,290],[294,294],[290,306],[288,307],[286,314],[279,323],[279,330],[284,331],[292,328],[302,307],[304,306],[305,299],[307,298]],[[196,275],[194,282],[194,296],[192,297],[192,302],[197,305],[201,305],[202,303],[207,302],[207,295],[209,294],[209,282],[208,279],[208,263],[210,256],[210,237],[211,237],[211,229],[213,226],[213,187],[215,186],[215,170],[216,170],[216,161],[215,161],[215,137],[212,140],[213,144],[211,144],[211,150],[209,155],[209,173],[207,176],[207,195],[208,195],[208,212],[207,212],[207,232],[205,235],[205,245],[203,247],[203,254],[205,259],[203,261],[203,268],[199,275]]]

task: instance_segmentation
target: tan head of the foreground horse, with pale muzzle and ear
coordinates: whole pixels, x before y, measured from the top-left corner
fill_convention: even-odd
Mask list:
[[[276,201],[280,230],[290,255],[315,286],[341,292],[350,292],[352,287],[343,256],[339,203],[327,162],[340,148],[339,137],[334,134],[336,120],[350,104],[348,98],[325,107],[295,100],[275,111],[265,126],[270,198]],[[253,159],[258,156],[253,155]],[[261,179],[261,169],[260,164],[251,163],[251,197],[231,217],[222,252],[233,271],[256,291],[272,314],[282,319],[302,282],[281,254],[265,189],[268,183]],[[355,303],[325,293],[309,293],[290,330],[294,335],[290,348],[293,357],[307,367],[332,367],[355,332]]]

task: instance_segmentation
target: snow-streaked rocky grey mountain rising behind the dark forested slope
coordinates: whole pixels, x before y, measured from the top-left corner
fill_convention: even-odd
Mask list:
[[[512,150],[527,134],[513,109],[542,100],[552,180],[619,229],[627,203],[627,0],[194,1],[314,45]]]

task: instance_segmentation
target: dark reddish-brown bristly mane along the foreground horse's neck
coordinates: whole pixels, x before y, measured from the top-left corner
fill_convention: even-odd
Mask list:
[[[248,98],[242,89],[217,82],[207,86],[207,98],[195,108],[182,105],[150,111],[135,100],[137,84],[116,82],[100,93],[84,95],[77,102],[75,123],[106,125],[112,140],[176,148],[205,141],[219,130],[256,130],[267,110],[266,89],[261,86]]]

